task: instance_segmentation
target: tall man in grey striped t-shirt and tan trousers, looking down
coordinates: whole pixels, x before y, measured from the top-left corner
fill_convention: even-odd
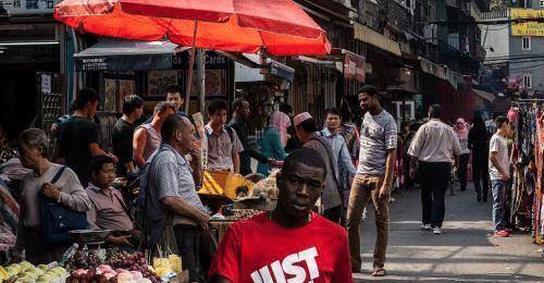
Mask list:
[[[366,112],[361,133],[359,168],[355,176],[347,209],[347,232],[353,272],[360,272],[360,225],[367,201],[372,199],[378,229],[374,247],[373,276],[386,275],[385,251],[390,233],[388,198],[393,183],[393,168],[397,148],[397,123],[378,99],[374,86],[363,86],[358,95]]]

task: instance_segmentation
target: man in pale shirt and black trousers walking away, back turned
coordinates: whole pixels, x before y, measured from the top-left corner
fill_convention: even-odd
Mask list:
[[[442,107],[433,104],[429,108],[430,121],[423,124],[411,142],[408,155],[410,160],[410,177],[416,176],[416,164],[419,162],[421,182],[422,224],[421,229],[433,230],[442,234],[446,194],[452,161],[457,162],[461,146],[454,130],[441,121]]]

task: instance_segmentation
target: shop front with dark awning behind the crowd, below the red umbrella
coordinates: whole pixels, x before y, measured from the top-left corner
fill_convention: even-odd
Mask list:
[[[73,56],[75,72],[83,77],[81,86],[92,87],[101,96],[98,118],[103,148],[111,146],[111,131],[121,115],[124,97],[140,96],[144,112],[150,115],[154,104],[165,100],[169,86],[177,85],[186,93],[187,50],[168,41],[100,39]],[[193,72],[196,73],[196,65]],[[196,74],[193,77],[196,78]],[[206,101],[217,98],[232,100],[234,67],[230,59],[215,52],[206,53],[205,89]],[[197,79],[193,79],[189,99],[185,99],[189,103],[189,114],[200,109],[197,91]]]

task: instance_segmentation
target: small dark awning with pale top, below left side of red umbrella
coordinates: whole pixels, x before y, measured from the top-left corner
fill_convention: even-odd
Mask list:
[[[172,70],[173,57],[185,49],[169,41],[102,39],[74,59],[77,72]]]

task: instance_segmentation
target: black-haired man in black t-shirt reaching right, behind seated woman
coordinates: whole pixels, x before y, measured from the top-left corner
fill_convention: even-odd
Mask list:
[[[98,144],[100,126],[92,122],[100,97],[92,88],[83,88],[73,102],[74,114],[59,126],[60,157],[74,170],[85,187],[89,182],[89,161],[91,157],[109,156]]]

